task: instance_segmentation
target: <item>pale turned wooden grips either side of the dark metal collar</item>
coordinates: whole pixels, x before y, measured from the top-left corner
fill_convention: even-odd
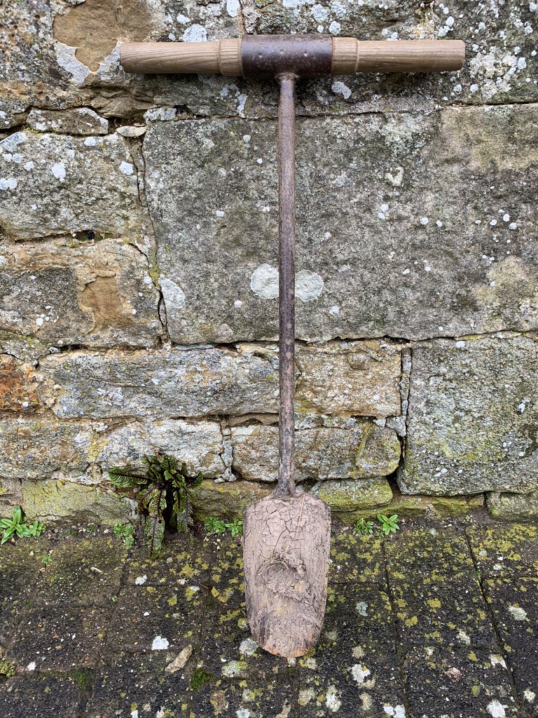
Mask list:
[[[265,38],[274,45],[275,36],[248,37],[256,37],[262,52]],[[292,37],[301,39],[299,35]],[[316,42],[321,36],[302,37],[305,42],[307,39]],[[328,39],[331,42],[331,38]],[[220,73],[237,77],[243,75],[241,45],[240,38],[215,42],[124,42],[120,57],[123,70],[128,73]],[[281,52],[283,62],[289,63],[289,56],[285,58],[284,50]],[[333,37],[331,75],[460,70],[464,58],[462,40],[388,41]],[[304,65],[304,60],[302,62]]]

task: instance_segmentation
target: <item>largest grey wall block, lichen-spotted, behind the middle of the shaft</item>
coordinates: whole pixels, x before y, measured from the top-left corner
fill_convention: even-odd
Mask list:
[[[300,121],[298,338],[537,327],[537,146],[535,105]],[[275,134],[162,122],[144,154],[172,339],[273,340]]]

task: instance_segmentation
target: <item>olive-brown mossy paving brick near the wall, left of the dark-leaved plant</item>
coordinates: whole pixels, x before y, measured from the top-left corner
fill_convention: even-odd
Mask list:
[[[127,553],[123,541],[110,536],[56,541],[41,574],[39,602],[108,605],[120,590]]]

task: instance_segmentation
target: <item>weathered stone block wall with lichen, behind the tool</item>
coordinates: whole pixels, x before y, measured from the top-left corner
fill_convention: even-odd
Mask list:
[[[159,448],[232,516],[277,471],[277,93],[118,41],[464,39],[461,73],[298,89],[298,480],[538,513],[538,4],[0,3],[0,515],[112,523]]]

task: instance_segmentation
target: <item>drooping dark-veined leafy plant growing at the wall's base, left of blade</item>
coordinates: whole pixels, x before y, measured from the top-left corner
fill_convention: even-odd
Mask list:
[[[204,477],[188,475],[187,466],[178,468],[176,457],[156,452],[143,457],[145,472],[131,473],[114,467],[108,473],[110,481],[118,488],[134,488],[138,508],[146,516],[144,536],[151,557],[157,556],[164,539],[165,511],[170,507],[170,528],[189,531],[192,526],[193,489]]]

